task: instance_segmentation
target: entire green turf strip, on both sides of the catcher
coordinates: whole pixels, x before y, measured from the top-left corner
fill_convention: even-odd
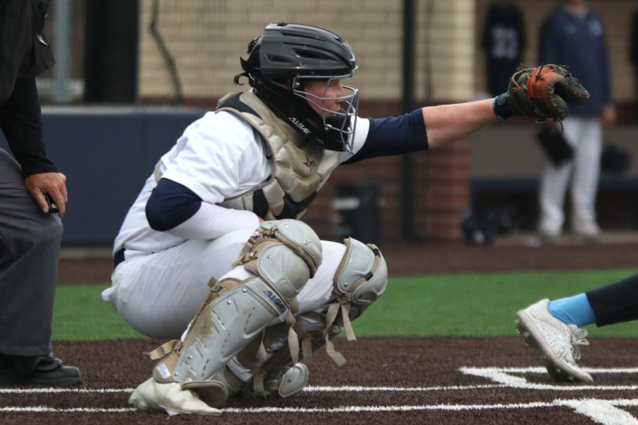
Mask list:
[[[515,312],[532,302],[576,295],[633,273],[633,269],[606,269],[391,278],[384,296],[353,326],[357,336],[515,335]],[[53,339],[141,337],[110,303],[101,300],[106,287],[58,287]],[[638,322],[591,326],[588,331],[593,336],[638,336]]]

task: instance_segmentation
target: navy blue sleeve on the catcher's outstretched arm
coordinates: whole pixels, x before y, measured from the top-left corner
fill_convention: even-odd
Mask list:
[[[369,118],[369,120],[370,129],[366,142],[359,152],[344,164],[427,149],[425,122],[420,108],[398,117]]]

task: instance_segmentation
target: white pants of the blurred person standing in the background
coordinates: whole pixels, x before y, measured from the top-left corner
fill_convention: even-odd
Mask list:
[[[571,229],[580,234],[599,232],[595,200],[600,176],[603,130],[596,117],[571,117],[564,123],[563,135],[573,148],[573,158],[560,166],[547,161],[540,188],[540,231],[560,234],[564,225],[564,199],[571,178]]]

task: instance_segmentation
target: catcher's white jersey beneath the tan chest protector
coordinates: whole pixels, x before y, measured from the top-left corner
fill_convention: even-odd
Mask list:
[[[369,120],[357,120],[354,153],[364,145],[369,130]],[[208,234],[221,236],[234,229],[256,229],[259,221],[253,212],[228,210],[217,204],[250,191],[269,179],[274,163],[267,158],[264,147],[259,133],[233,113],[208,112],[189,125],[174,147],[162,156],[160,171],[162,178],[186,186],[203,203],[219,209],[216,220],[207,224],[216,229],[207,227]],[[339,163],[352,155],[342,152]],[[148,224],[145,208],[155,186],[157,182],[151,175],[125,217],[113,253],[125,247],[127,259],[130,259],[136,252],[162,251],[187,240],[170,232],[157,232]]]

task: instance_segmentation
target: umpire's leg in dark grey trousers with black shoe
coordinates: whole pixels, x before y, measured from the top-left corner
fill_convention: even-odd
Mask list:
[[[0,149],[0,385],[72,385],[79,370],[52,355],[62,222],[38,208],[18,163]]]

